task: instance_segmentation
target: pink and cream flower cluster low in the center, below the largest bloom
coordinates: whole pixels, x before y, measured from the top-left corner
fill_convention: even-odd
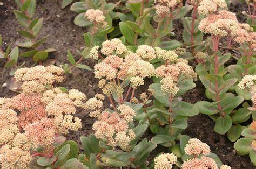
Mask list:
[[[97,138],[106,139],[107,145],[120,146],[124,151],[129,149],[130,142],[136,137],[133,130],[129,129],[129,122],[133,121],[135,111],[127,105],[121,104],[118,112],[103,111],[98,120],[93,123]]]

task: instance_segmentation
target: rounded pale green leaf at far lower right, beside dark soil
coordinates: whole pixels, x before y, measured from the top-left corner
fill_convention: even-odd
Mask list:
[[[235,142],[234,149],[238,151],[240,155],[246,155],[252,150],[252,139],[240,138]]]

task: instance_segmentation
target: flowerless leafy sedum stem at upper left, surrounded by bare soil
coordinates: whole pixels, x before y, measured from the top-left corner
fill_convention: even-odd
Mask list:
[[[56,51],[54,48],[39,50],[38,46],[46,41],[48,36],[39,38],[38,35],[42,29],[43,18],[34,17],[36,12],[36,0],[16,0],[19,10],[15,10],[15,16],[18,23],[23,27],[17,32],[25,38],[24,42],[17,42],[17,46],[27,48],[21,57],[31,57],[35,62],[42,62],[48,58],[50,52]],[[16,60],[17,62],[17,60]],[[15,63],[14,63],[15,64]],[[14,65],[12,64],[12,66]]]

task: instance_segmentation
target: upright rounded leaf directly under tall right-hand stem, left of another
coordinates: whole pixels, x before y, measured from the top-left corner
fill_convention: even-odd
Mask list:
[[[230,116],[218,117],[214,126],[214,131],[220,135],[224,135],[232,126],[232,119]]]

